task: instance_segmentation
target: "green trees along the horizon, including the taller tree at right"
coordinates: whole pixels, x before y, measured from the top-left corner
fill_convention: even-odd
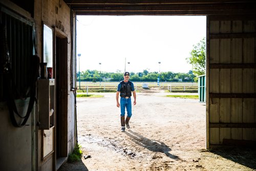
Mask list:
[[[190,56],[186,58],[187,62],[193,66],[193,70],[188,73],[174,73],[174,72],[143,72],[130,73],[131,81],[172,81],[172,82],[194,82],[198,80],[199,75],[205,74],[205,37],[200,40],[197,45],[193,46]],[[80,75],[80,76],[79,76]],[[86,70],[77,73],[77,80],[80,81],[121,81],[123,80],[123,73],[118,70],[116,73],[99,72],[97,70]]]

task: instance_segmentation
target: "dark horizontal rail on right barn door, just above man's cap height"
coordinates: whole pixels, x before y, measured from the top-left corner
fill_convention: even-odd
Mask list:
[[[256,63],[212,63],[209,65],[210,69],[243,69],[243,68],[256,68]]]

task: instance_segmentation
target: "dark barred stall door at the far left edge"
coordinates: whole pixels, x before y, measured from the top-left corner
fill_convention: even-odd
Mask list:
[[[30,84],[35,72],[32,70],[34,22],[0,6],[0,24],[0,168],[34,170],[36,116],[34,110],[27,114],[34,96]]]

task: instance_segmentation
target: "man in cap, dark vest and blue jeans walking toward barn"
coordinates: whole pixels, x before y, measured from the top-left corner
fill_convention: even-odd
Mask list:
[[[127,129],[130,129],[129,120],[132,117],[132,92],[133,92],[133,98],[134,102],[133,104],[136,104],[136,92],[134,90],[133,82],[129,81],[130,79],[130,73],[125,72],[123,76],[123,81],[121,81],[118,84],[117,92],[116,92],[116,106],[119,108],[121,106],[121,131],[125,131],[125,125]],[[120,103],[119,103],[119,94],[120,94]],[[126,119],[125,117],[125,108],[127,111]]]

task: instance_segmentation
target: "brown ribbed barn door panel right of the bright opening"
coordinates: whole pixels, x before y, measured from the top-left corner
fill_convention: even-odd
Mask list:
[[[207,32],[207,147],[248,144],[256,140],[256,20],[208,16]]]

